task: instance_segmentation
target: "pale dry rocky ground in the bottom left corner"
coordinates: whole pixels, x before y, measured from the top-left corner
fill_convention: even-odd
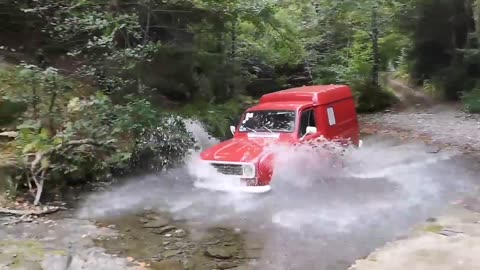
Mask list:
[[[77,219],[38,219],[0,229],[0,269],[139,269],[94,244],[118,233]],[[70,268],[68,268],[70,267]]]

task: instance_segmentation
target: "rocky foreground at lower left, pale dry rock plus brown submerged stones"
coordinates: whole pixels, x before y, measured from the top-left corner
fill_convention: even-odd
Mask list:
[[[251,269],[261,249],[235,230],[197,232],[167,214],[51,218],[0,228],[0,269]]]

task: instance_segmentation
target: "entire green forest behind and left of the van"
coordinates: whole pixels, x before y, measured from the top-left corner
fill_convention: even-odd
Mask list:
[[[264,93],[389,78],[480,112],[479,0],[0,0],[0,186],[10,196],[177,164]],[[1,190],[2,188],[0,188]]]

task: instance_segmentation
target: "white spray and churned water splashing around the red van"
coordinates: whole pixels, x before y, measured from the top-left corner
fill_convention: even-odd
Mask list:
[[[196,122],[187,128],[204,146],[217,142]],[[458,153],[428,154],[418,144],[367,142],[363,149],[343,152],[343,169],[325,166],[329,163],[315,159],[319,152],[311,148],[269,151],[280,157],[271,193],[195,188],[197,176],[217,185],[232,185],[233,180],[215,175],[193,153],[185,168],[132,179],[92,195],[79,215],[96,218],[153,207],[179,219],[249,231],[265,244],[258,269],[345,269],[412,224],[435,215],[467,192],[474,179],[461,164],[450,163]]]

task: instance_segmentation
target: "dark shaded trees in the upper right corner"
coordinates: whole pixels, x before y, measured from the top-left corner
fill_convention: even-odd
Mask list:
[[[409,2],[414,5],[396,18],[412,44],[406,72],[438,97],[461,99],[480,75],[478,1]]]

